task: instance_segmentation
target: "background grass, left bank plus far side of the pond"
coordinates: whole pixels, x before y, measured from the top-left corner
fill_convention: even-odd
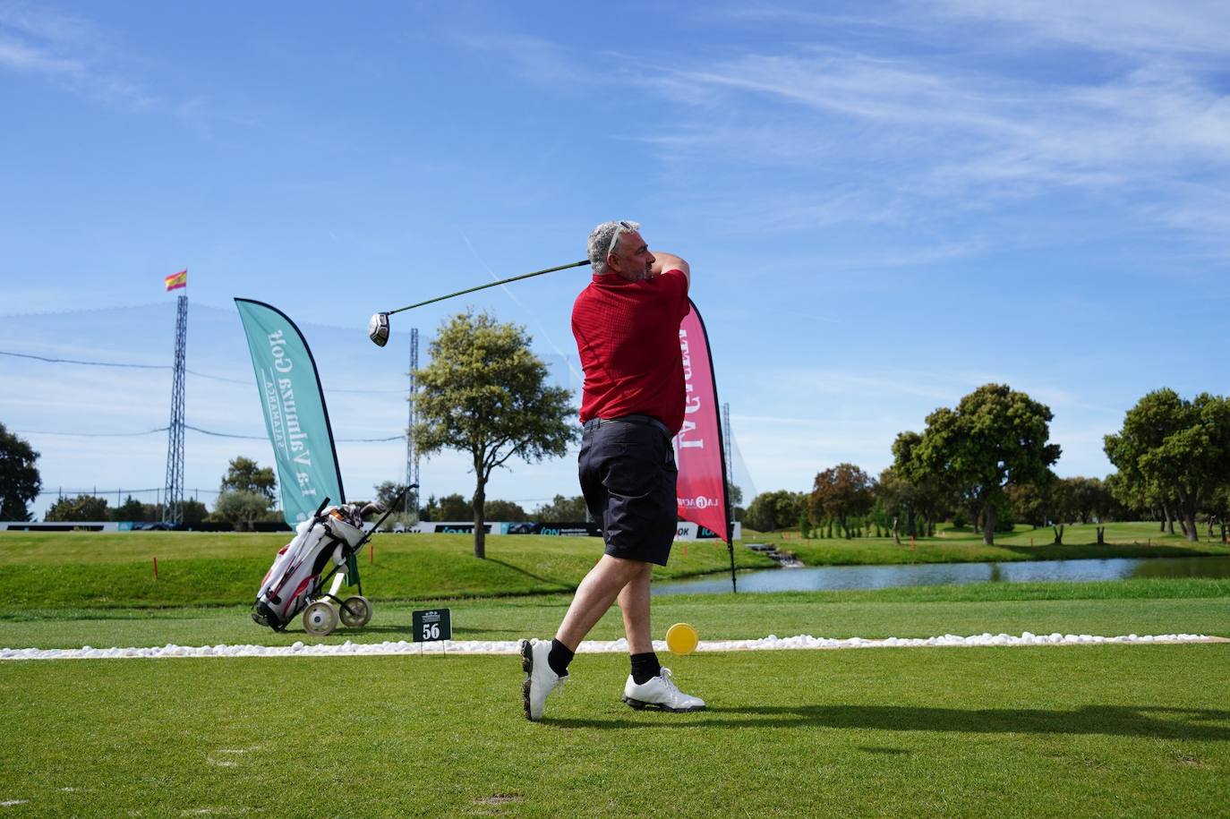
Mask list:
[[[1090,531],[1070,526],[1065,540],[1091,539]],[[1112,524],[1106,546],[1050,546],[1049,530],[1028,528],[999,537],[995,546],[984,546],[968,529],[943,529],[936,537],[918,540],[913,548],[886,537],[798,540],[785,535],[749,532],[745,542],[776,544],[809,566],[1230,555],[1230,547],[1221,544],[1157,537],[1155,524]],[[234,605],[255,595],[285,542],[287,535],[277,532],[0,532],[0,606]],[[535,535],[490,536],[486,561],[474,560],[469,535],[380,535],[373,545],[374,555],[365,550],[359,566],[368,596],[375,600],[567,593],[600,553],[599,541],[592,537]],[[743,542],[736,545],[736,561],[740,569],[775,566]],[[656,568],[654,579],[723,572],[727,566],[722,544],[679,542],[669,567]]]

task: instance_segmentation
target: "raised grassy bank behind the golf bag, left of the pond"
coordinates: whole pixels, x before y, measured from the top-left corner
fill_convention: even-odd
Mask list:
[[[11,607],[234,605],[256,596],[284,534],[0,532],[0,601]],[[368,596],[430,599],[571,592],[601,553],[593,537],[381,535],[359,560]],[[154,558],[159,576],[154,578]],[[739,568],[775,563],[736,550]],[[676,544],[654,579],[729,566],[724,544]]]

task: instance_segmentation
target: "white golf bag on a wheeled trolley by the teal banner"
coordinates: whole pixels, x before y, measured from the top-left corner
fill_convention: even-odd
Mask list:
[[[362,596],[354,555],[369,536],[363,531],[360,508],[321,504],[310,520],[299,524],[294,540],[282,547],[261,580],[252,604],[252,620],[284,631],[295,615],[306,609],[304,628],[312,635],[330,633],[338,617],[347,626],[367,625],[371,619],[371,604]],[[339,600],[337,592],[347,577],[352,585],[358,585],[359,596]],[[330,579],[333,588],[322,593]]]

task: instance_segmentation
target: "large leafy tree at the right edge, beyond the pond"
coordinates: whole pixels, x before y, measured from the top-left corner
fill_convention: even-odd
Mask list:
[[[1198,540],[1197,512],[1230,482],[1230,401],[1155,390],[1128,410],[1105,450],[1119,470],[1121,492],[1160,499],[1167,516],[1175,508],[1188,540]]]

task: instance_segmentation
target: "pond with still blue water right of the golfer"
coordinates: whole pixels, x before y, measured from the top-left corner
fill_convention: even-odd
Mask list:
[[[1154,557],[1006,563],[910,563],[904,566],[815,566],[740,572],[739,592],[888,589],[903,585],[1125,580],[1130,578],[1230,578],[1230,557]],[[731,576],[653,585],[653,594],[729,592]]]

